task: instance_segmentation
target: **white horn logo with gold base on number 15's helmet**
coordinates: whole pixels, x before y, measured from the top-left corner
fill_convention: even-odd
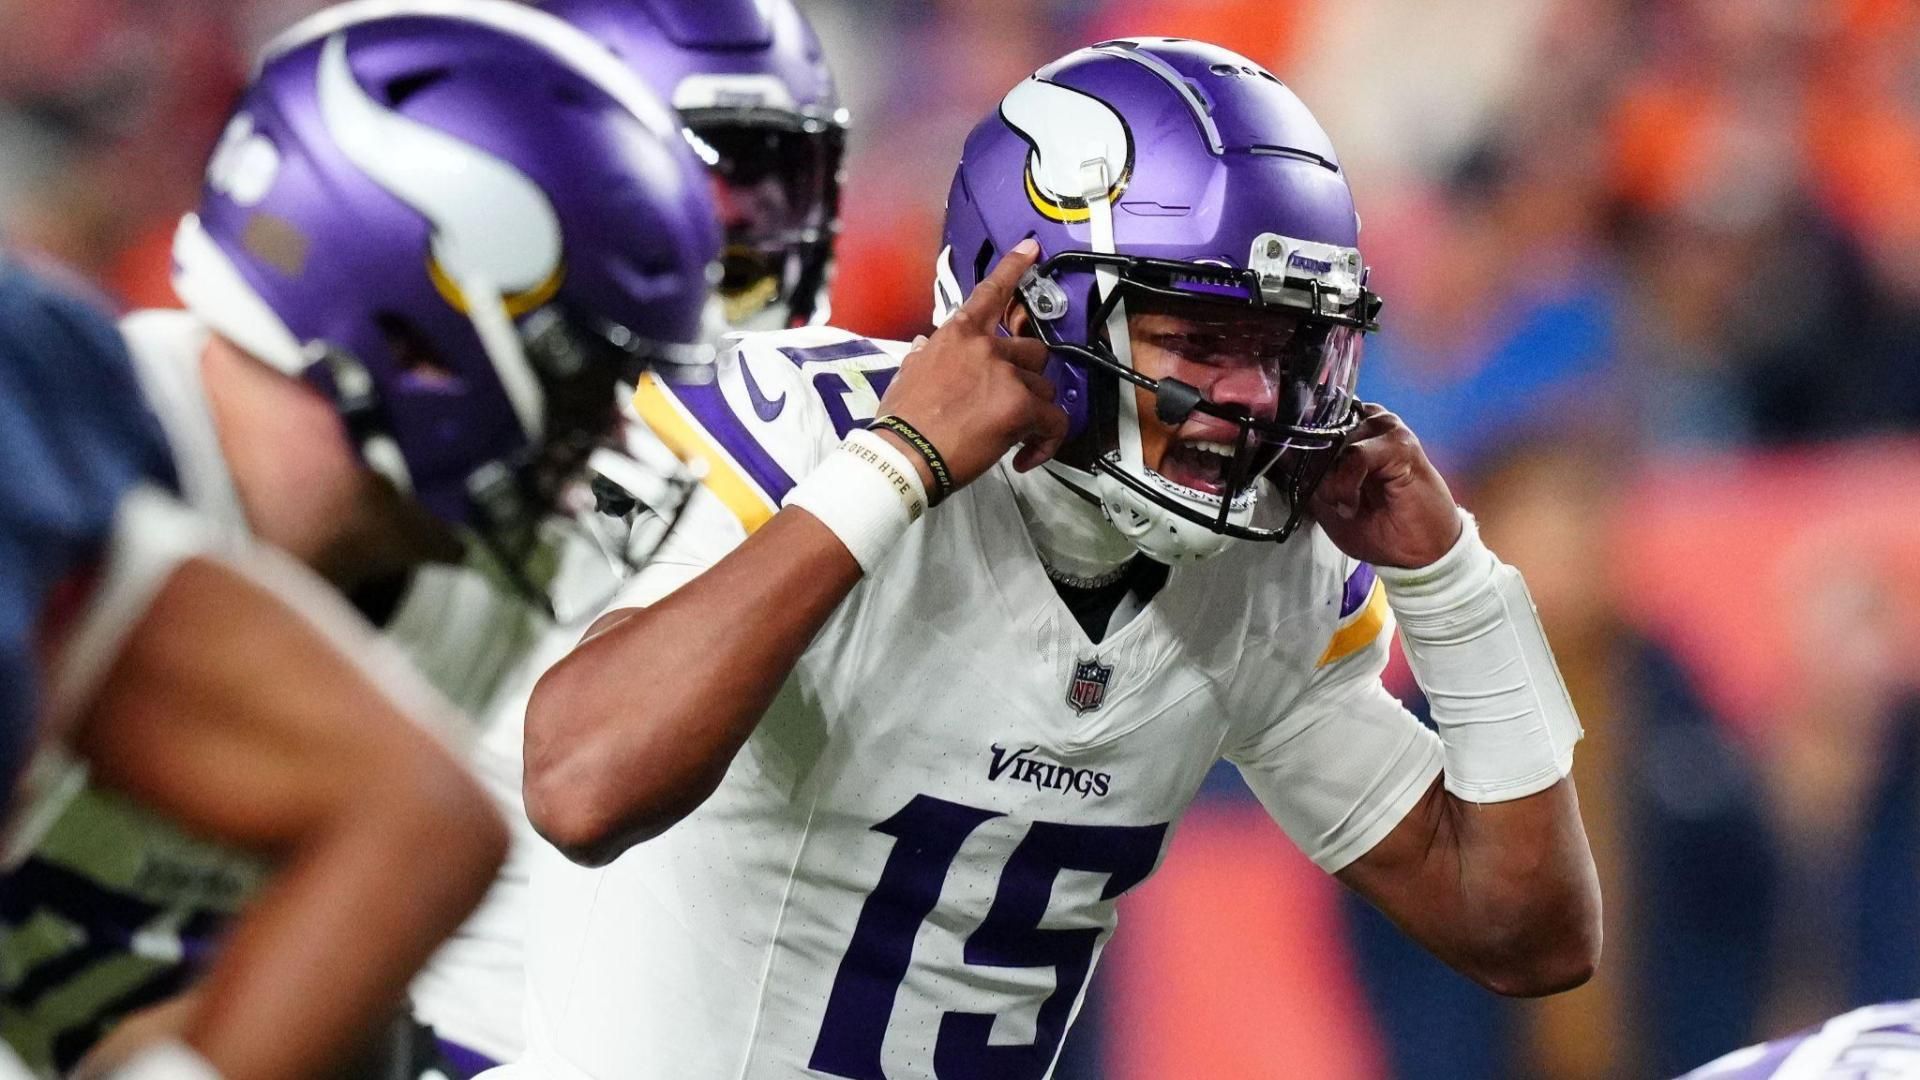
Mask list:
[[[1054,221],[1087,221],[1083,167],[1106,161],[1114,177],[1108,202],[1117,200],[1133,177],[1133,135],[1114,106],[1041,79],[1014,86],[1000,102],[1006,121],[1033,148],[1027,154],[1027,200]]]

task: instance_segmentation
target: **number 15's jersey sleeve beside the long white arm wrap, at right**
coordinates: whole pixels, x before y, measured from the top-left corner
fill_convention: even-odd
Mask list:
[[[1273,723],[1229,736],[1273,821],[1327,872],[1365,855],[1440,774],[1440,740],[1380,684],[1394,617],[1373,569],[1346,561],[1340,619],[1313,678]]]

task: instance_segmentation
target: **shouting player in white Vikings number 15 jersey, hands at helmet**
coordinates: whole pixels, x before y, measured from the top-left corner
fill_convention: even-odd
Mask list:
[[[1461,972],[1586,980],[1578,719],[1519,575],[1354,400],[1357,233],[1271,73],[1104,42],[970,136],[931,340],[641,380],[707,477],[530,701],[520,1068],[1044,1076],[1219,757]],[[1438,732],[1380,684],[1396,619]]]

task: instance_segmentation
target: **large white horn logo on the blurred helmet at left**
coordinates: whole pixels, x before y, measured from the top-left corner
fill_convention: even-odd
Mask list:
[[[522,315],[561,288],[561,219],[526,173],[440,129],[372,100],[348,67],[344,35],[326,38],[319,71],[321,121],[357,169],[434,227],[428,273],[467,311],[461,281],[501,290]]]

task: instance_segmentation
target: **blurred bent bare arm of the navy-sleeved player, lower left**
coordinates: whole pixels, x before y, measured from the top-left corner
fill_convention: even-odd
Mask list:
[[[355,1053],[505,853],[492,801],[415,723],[432,698],[348,659],[371,634],[298,575],[192,555],[56,646],[61,671],[90,659],[71,653],[100,669],[71,734],[100,782],[280,863],[182,1019],[223,1076],[317,1076]]]

